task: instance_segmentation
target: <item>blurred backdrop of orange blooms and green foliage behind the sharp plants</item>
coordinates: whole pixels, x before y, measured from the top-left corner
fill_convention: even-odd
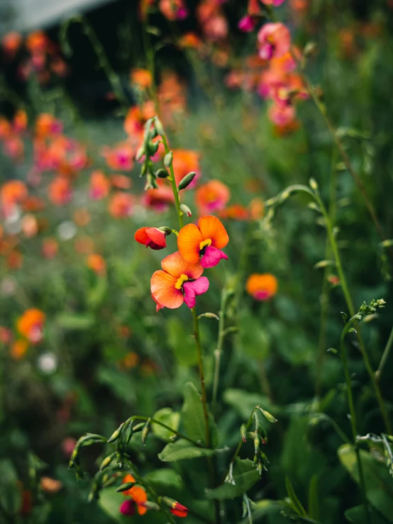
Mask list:
[[[106,498],[87,503],[89,478],[77,483],[67,469],[77,438],[110,435],[132,414],[179,411],[184,384],[197,381],[187,308],[156,313],[150,297],[150,277],[169,252],[133,240],[145,225],[177,224],[169,184],[144,191],[135,161],[157,109],[175,171],[198,173],[184,191],[191,220],[213,213],[231,239],[229,260],[209,275],[198,305],[218,313],[222,289],[235,289],[226,322],[238,331],[224,342],[218,393],[221,444],[235,446],[255,403],[267,406],[279,423],[269,472],[251,493],[257,505],[286,496],[285,476],[307,505],[316,478],[317,521],[361,522],[345,517],[360,501],[337,455],[341,438],[316,416],[350,435],[341,362],[326,352],[338,347],[341,311],[348,312],[336,267],[325,263],[332,258],[326,230],[307,197],[294,196],[275,213],[264,203],[316,179],[355,308],[387,301],[362,328],[377,370],[393,313],[393,4],[287,0],[273,15],[260,4],[258,14],[287,25],[295,55],[314,44],[305,74],[375,206],[385,243],[292,65],[284,72],[291,113],[275,111],[265,88],[277,72],[258,57],[255,31],[238,27],[248,3],[186,4],[180,16],[165,1],[0,0],[0,506],[8,515],[0,513],[0,523],[123,518]],[[248,293],[255,273],[277,279],[270,300]],[[31,310],[38,313],[26,320]],[[201,325],[210,396],[217,329],[213,320]],[[380,434],[355,338],[349,352],[360,434]],[[380,377],[389,416],[391,367],[388,357]],[[135,464],[146,473],[160,469],[161,448],[160,440],[135,442]],[[89,475],[99,453],[86,453]],[[170,489],[187,503],[187,472],[177,472],[184,484]],[[375,522],[392,522],[383,507]],[[255,521],[287,520],[258,506]]]

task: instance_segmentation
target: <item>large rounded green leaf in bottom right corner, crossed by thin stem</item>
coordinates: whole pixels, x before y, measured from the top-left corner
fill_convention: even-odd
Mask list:
[[[359,484],[358,464],[352,445],[345,444],[338,450],[341,464]],[[370,453],[360,450],[367,500],[389,522],[393,522],[393,479],[384,464],[377,462]]]

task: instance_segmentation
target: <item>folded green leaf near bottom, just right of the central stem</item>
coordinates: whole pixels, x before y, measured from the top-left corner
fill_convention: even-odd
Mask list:
[[[260,480],[260,474],[250,459],[236,459],[233,467],[233,480],[235,484],[224,482],[218,488],[206,490],[206,497],[223,501],[226,498],[242,496]]]

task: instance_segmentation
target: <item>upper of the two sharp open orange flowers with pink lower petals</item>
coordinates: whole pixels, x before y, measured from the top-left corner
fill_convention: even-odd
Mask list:
[[[216,266],[222,258],[228,260],[221,251],[228,242],[228,233],[215,216],[202,216],[198,225],[185,225],[177,237],[177,247],[184,260],[196,264],[201,257],[201,266],[205,268]]]

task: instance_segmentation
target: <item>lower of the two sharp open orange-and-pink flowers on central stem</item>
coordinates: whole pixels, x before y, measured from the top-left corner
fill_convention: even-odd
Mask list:
[[[196,226],[195,226],[196,227]],[[206,293],[209,280],[201,277],[204,268],[199,263],[184,260],[179,251],[165,257],[161,262],[163,271],[153,273],[150,290],[157,304],[165,308],[179,308],[183,302],[191,309],[196,295]]]

